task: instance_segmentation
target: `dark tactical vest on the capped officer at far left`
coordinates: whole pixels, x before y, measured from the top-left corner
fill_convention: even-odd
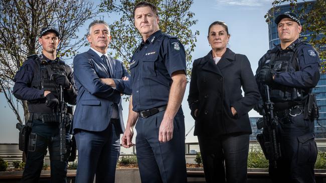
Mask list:
[[[65,63],[57,58],[54,61],[47,62],[42,56],[34,56],[35,64],[34,76],[31,82],[31,87],[37,89],[44,89],[53,92],[57,97],[59,96],[59,86],[55,81],[55,76],[58,74],[67,75]],[[45,98],[30,103],[43,103]]]

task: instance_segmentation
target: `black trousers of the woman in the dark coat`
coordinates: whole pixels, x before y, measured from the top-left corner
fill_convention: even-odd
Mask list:
[[[247,181],[249,134],[198,136],[206,182]]]

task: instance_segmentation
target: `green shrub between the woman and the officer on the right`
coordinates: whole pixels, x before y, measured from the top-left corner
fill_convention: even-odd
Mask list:
[[[268,168],[268,160],[261,148],[251,148],[248,154],[248,168]]]

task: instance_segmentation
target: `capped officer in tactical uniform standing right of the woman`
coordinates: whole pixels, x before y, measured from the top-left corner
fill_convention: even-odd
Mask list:
[[[273,182],[315,182],[317,147],[313,129],[318,111],[311,90],[320,76],[318,53],[312,45],[299,40],[302,27],[295,14],[282,13],[275,23],[280,44],[267,51],[256,71],[262,98],[266,101],[264,88],[268,85],[278,119],[276,146],[280,147],[280,157],[276,163],[269,159],[269,174]],[[261,107],[256,109],[262,112]],[[269,132],[264,127],[263,144],[270,142]]]

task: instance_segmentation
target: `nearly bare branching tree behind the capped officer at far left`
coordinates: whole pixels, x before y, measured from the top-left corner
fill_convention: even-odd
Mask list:
[[[86,0],[1,0],[0,2],[0,92],[7,98],[19,122],[19,108],[26,101],[15,101],[13,78],[27,55],[40,53],[38,35],[42,27],[55,26],[61,40],[58,55],[69,57],[83,45],[85,37],[76,34],[78,27],[93,17],[93,3]]]

